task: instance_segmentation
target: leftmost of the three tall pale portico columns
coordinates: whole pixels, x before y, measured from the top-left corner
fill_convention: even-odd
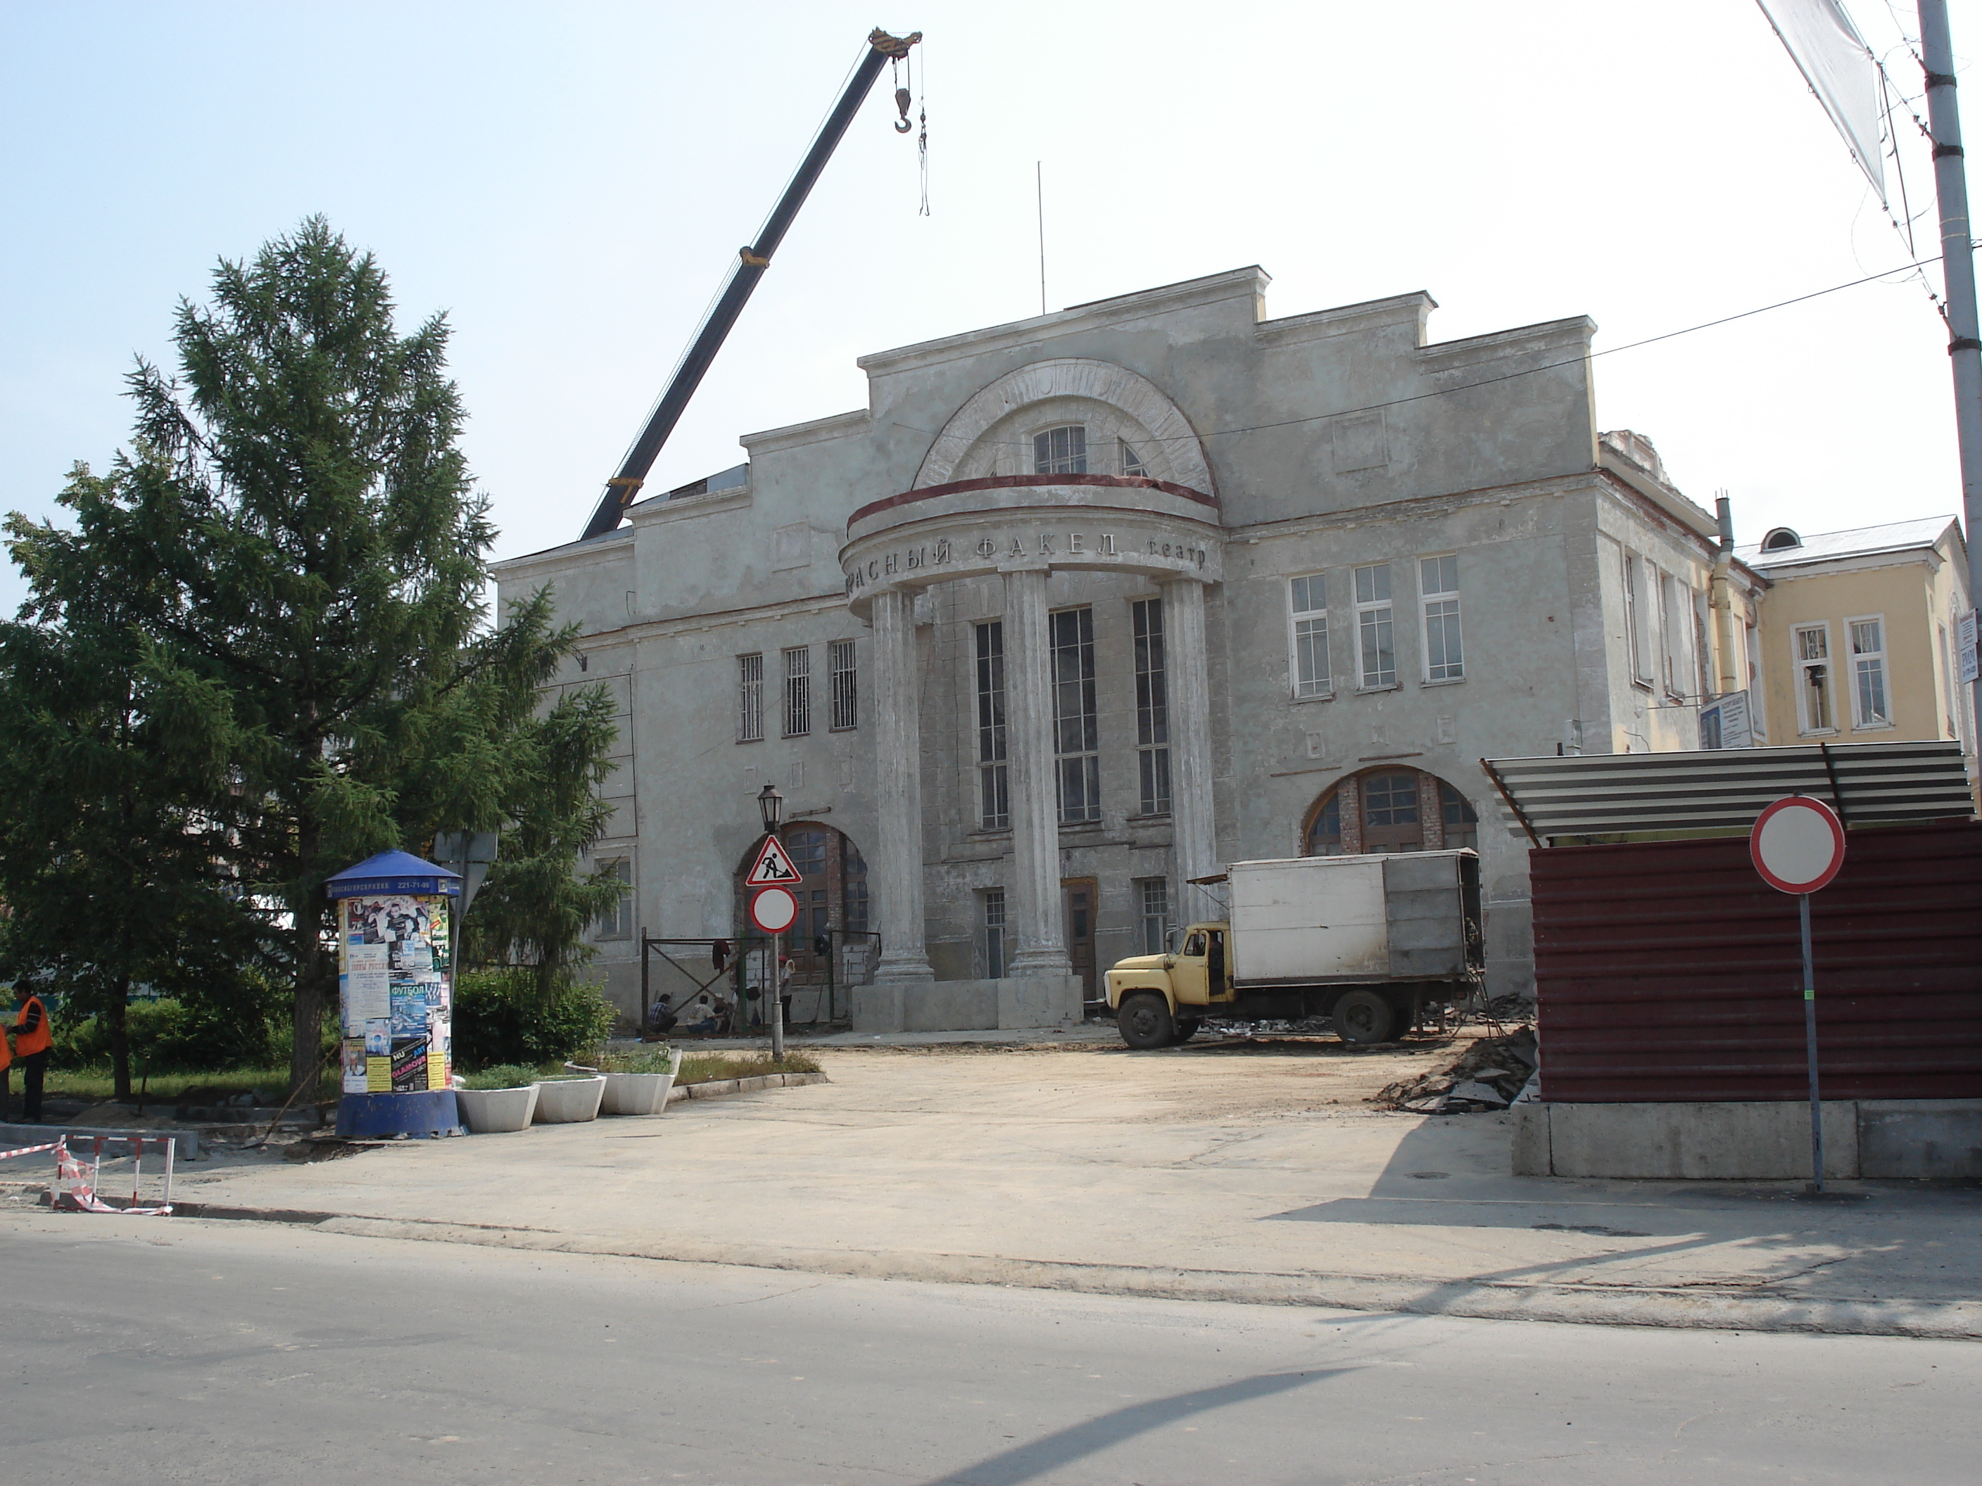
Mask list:
[[[916,674],[916,596],[874,594],[874,783],[880,854],[868,866],[882,955],[876,981],[930,981],[922,945],[922,688]]]

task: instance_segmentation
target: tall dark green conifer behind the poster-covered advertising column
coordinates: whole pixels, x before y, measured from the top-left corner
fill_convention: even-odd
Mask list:
[[[131,374],[135,450],[71,481],[79,529],[16,519],[16,551],[143,596],[157,705],[135,715],[208,769],[153,783],[268,931],[301,1084],[335,993],[325,878],[438,828],[496,828],[571,632],[543,592],[488,626],[494,531],[456,448],[446,323],[400,337],[383,271],[321,218],[222,262],[174,341],[178,376]]]

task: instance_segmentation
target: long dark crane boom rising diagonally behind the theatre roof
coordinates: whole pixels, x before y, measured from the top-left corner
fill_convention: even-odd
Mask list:
[[[840,135],[846,133],[846,125],[852,123],[854,113],[860,111],[860,103],[866,101],[868,89],[880,75],[880,69],[888,61],[898,61],[908,55],[908,50],[922,40],[922,32],[910,32],[908,36],[888,36],[876,30],[868,36],[866,55],[860,57],[860,65],[854,67],[854,75],[846,83],[846,91],[840,93],[840,101],[826,115],[826,121],[819,127],[819,137],[813,141],[813,149],[805,153],[805,160],[799,164],[799,172],[785,186],[785,194],[779,196],[777,206],[771,208],[771,216],[763,224],[763,232],[757,234],[757,242],[749,248],[737,252],[737,265],[729,271],[729,281],[723,285],[721,295],[716,299],[716,307],[710,317],[702,323],[700,333],[694,343],[682,355],[680,365],[674,369],[674,378],[668,382],[668,390],[660,394],[660,402],[654,404],[654,414],[646,420],[646,428],[640,430],[640,438],[632,442],[626,452],[618,474],[606,481],[605,495],[599,497],[599,509],[593,511],[593,519],[585,523],[587,537],[603,537],[605,533],[618,527],[632,505],[634,497],[640,493],[640,485],[646,483],[648,470],[654,468],[654,458],[660,454],[662,444],[668,442],[668,434],[674,432],[674,424],[680,422],[682,412],[688,408],[688,400],[696,394],[702,384],[704,372],[708,372],[710,363],[716,361],[716,353],[721,351],[723,341],[729,337],[729,329],[737,323],[737,315],[743,313],[743,305],[749,303],[751,291],[757,287],[757,279],[771,265],[771,254],[785,240],[785,232],[791,230],[793,220],[799,216],[799,208],[805,206],[805,198],[811,194],[813,184],[819,180],[821,170],[826,168],[826,160],[832,159],[832,151],[840,143]],[[904,117],[906,117],[906,93]]]

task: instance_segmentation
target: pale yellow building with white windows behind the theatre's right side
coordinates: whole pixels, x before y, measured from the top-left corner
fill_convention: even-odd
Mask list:
[[[1819,537],[1776,527],[1738,557],[1768,579],[1756,644],[1770,743],[1960,739],[1974,751],[1954,648],[1970,604],[1960,521]]]

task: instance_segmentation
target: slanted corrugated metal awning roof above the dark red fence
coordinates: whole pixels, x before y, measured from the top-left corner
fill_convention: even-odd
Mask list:
[[[1508,824],[1530,840],[1746,828],[1770,800],[1814,795],[1847,826],[1974,816],[1958,743],[1481,759]]]

